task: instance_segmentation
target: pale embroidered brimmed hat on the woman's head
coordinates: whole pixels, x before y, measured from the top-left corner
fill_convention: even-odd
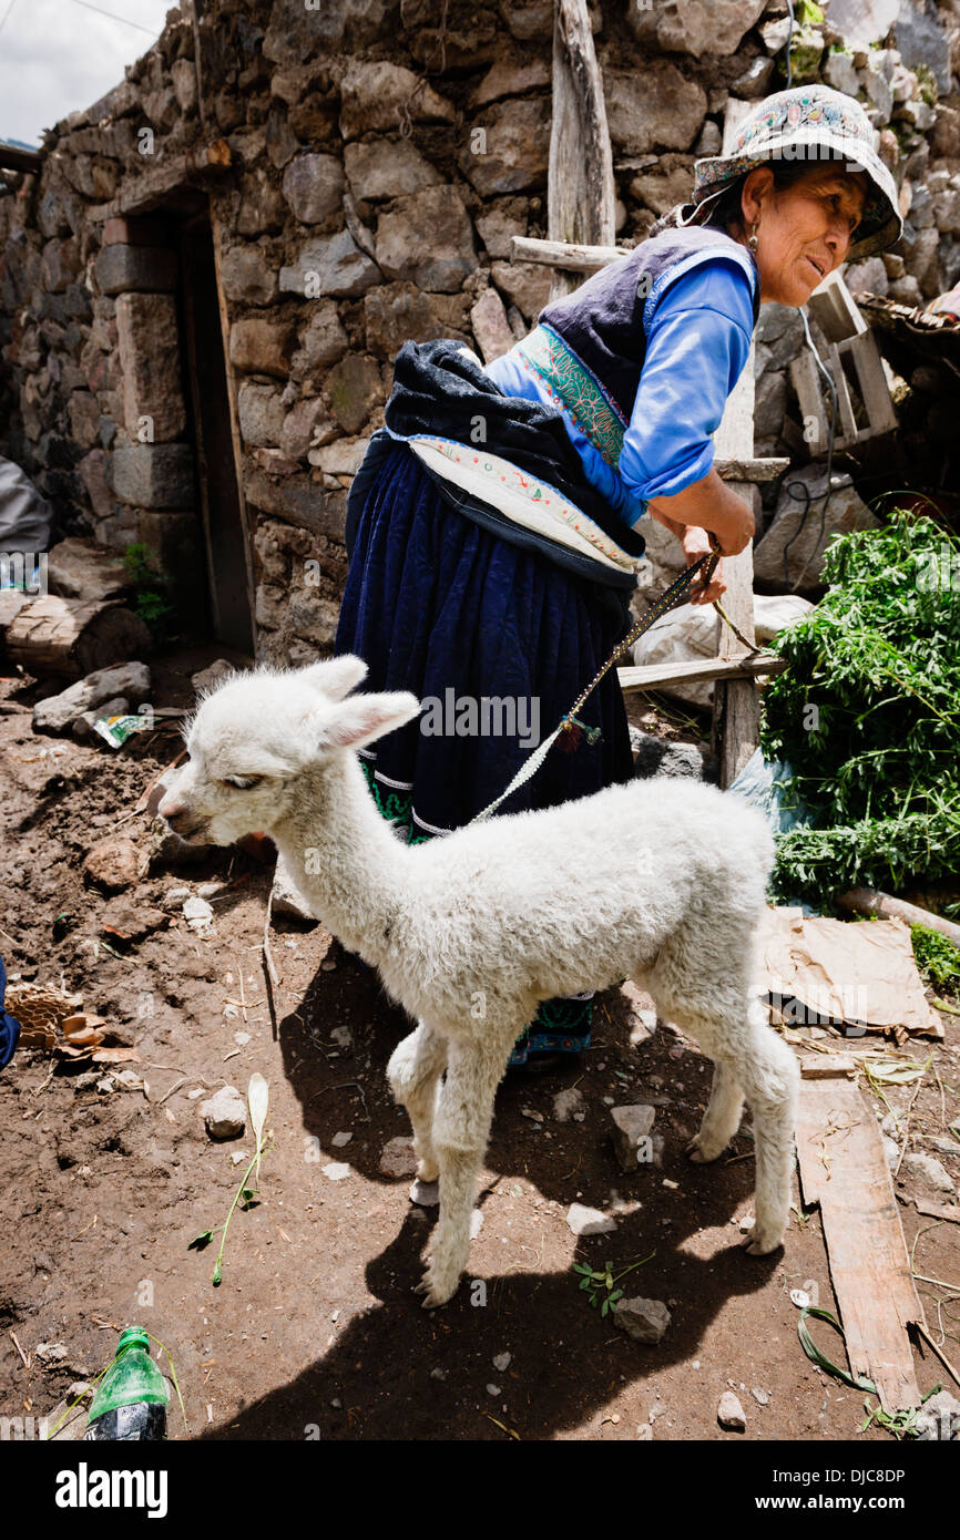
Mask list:
[[[772,160],[809,160],[811,169],[818,163],[843,162],[844,171],[866,172],[871,185],[848,260],[884,251],[900,239],[903,220],[897,185],[874,149],[871,120],[854,97],[820,85],[778,91],[758,102],[737,129],[727,156],[710,156],[695,163],[693,205],[684,208],[678,222],[706,223],[732,182]]]

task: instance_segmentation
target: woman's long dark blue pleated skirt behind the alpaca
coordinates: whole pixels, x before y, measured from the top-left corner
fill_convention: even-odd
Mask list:
[[[351,499],[336,653],[364,690],[411,690],[425,710],[361,752],[370,790],[410,842],[459,829],[507,787],[627,630],[626,599],[453,508],[418,456],[390,444]],[[616,670],[498,812],[555,807],[633,776]],[[567,744],[578,736],[576,747]],[[512,1064],[590,1043],[593,995],[544,1001]]]

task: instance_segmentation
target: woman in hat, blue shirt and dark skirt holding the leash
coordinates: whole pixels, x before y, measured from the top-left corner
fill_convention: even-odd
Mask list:
[[[733,151],[695,171],[692,205],[493,363],[448,339],[398,354],[387,427],[350,491],[334,650],[367,661],[365,688],[427,702],[362,750],[378,807],[411,842],[499,796],[626,634],[646,513],[689,562],[710,534],[726,556],[744,550],[754,516],[712,468],[710,434],[758,306],[803,305],[900,236],[869,122],[826,86],[763,102]],[[723,590],[718,567],[692,598]],[[578,721],[582,736],[562,735],[504,813],[630,779],[615,670]],[[589,1046],[592,1010],[587,995],[545,1001],[510,1063],[570,1063],[558,1055]]]

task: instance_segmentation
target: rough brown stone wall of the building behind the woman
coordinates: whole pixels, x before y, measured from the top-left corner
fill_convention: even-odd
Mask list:
[[[898,256],[848,277],[914,302],[960,276],[960,0],[900,9],[903,57],[807,28],[801,74],[866,100],[909,220]],[[347,488],[401,343],[458,337],[492,359],[547,300],[549,271],[512,263],[509,243],[547,234],[552,0],[451,0],[442,35],[441,14],[441,0],[211,0],[199,91],[193,28],[171,11],[0,196],[0,453],[51,497],[60,533],[146,539],[173,570],[197,561],[196,477],[176,254],[140,194],[166,177],[176,197],[182,166],[208,196],[265,658],[330,648]],[[727,97],[781,83],[786,6],[592,14],[632,245],[718,151]],[[783,453],[798,345],[797,316],[766,306],[761,453]]]

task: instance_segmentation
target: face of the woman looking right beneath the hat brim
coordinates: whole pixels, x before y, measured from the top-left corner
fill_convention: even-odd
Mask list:
[[[760,302],[806,305],[814,290],[846,260],[866,202],[864,172],[814,168],[777,191],[769,166],[743,188],[746,231],[757,220]]]

